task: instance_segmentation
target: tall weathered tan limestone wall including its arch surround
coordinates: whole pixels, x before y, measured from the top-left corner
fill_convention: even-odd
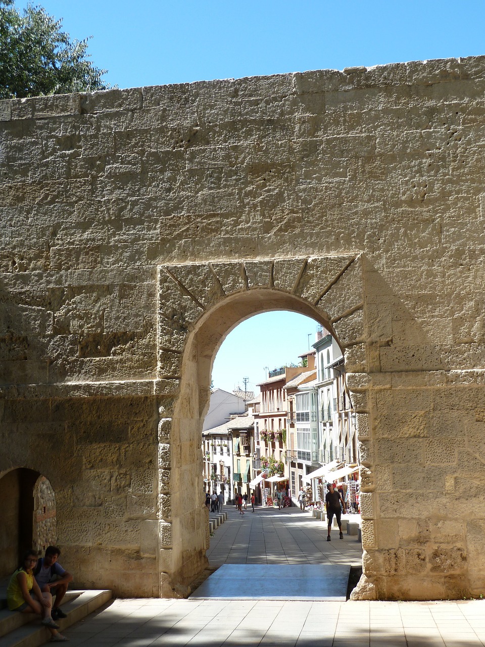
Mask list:
[[[8,474],[28,468],[52,485],[79,586],[184,595],[206,564],[213,357],[244,318],[291,309],[345,351],[354,596],[482,593],[484,72],[479,57],[0,102],[9,527]]]

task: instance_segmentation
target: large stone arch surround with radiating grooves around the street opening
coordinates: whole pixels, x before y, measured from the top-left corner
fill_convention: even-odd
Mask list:
[[[206,567],[202,506],[201,431],[210,398],[213,358],[244,319],[271,310],[312,317],[341,345],[358,413],[368,439],[365,402],[363,269],[359,254],[191,263],[158,273],[158,441],[160,593],[184,593]],[[174,289],[176,288],[176,289]],[[361,444],[362,438],[360,438]],[[362,451],[364,465],[369,452]],[[370,474],[363,482],[363,548],[374,545]],[[365,498],[365,497],[364,497]]]

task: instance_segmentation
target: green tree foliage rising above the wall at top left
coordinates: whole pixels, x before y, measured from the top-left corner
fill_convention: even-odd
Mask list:
[[[41,6],[21,14],[0,0],[0,98],[105,90],[105,70],[92,65],[87,39],[71,40],[62,21]]]

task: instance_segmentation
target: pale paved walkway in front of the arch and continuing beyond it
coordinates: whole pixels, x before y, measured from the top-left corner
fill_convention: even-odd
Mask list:
[[[360,560],[354,537],[326,542],[325,524],[297,509],[226,512],[212,565]],[[84,647],[484,646],[485,601],[115,600],[65,635]]]

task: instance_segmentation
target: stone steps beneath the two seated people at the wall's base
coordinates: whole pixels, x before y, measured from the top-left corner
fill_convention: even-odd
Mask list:
[[[58,620],[63,632],[111,600],[108,590],[68,591],[61,605],[67,618]],[[0,647],[39,647],[50,641],[50,632],[40,624],[38,616],[18,611],[0,611]]]

